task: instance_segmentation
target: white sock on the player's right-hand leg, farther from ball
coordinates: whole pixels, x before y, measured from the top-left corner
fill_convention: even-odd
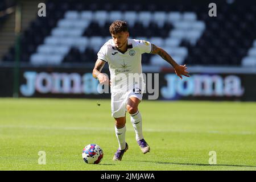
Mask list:
[[[134,131],[136,134],[136,140],[141,140],[143,139],[143,134],[142,134],[142,118],[141,118],[141,113],[139,110],[131,114],[131,123],[133,124]]]

